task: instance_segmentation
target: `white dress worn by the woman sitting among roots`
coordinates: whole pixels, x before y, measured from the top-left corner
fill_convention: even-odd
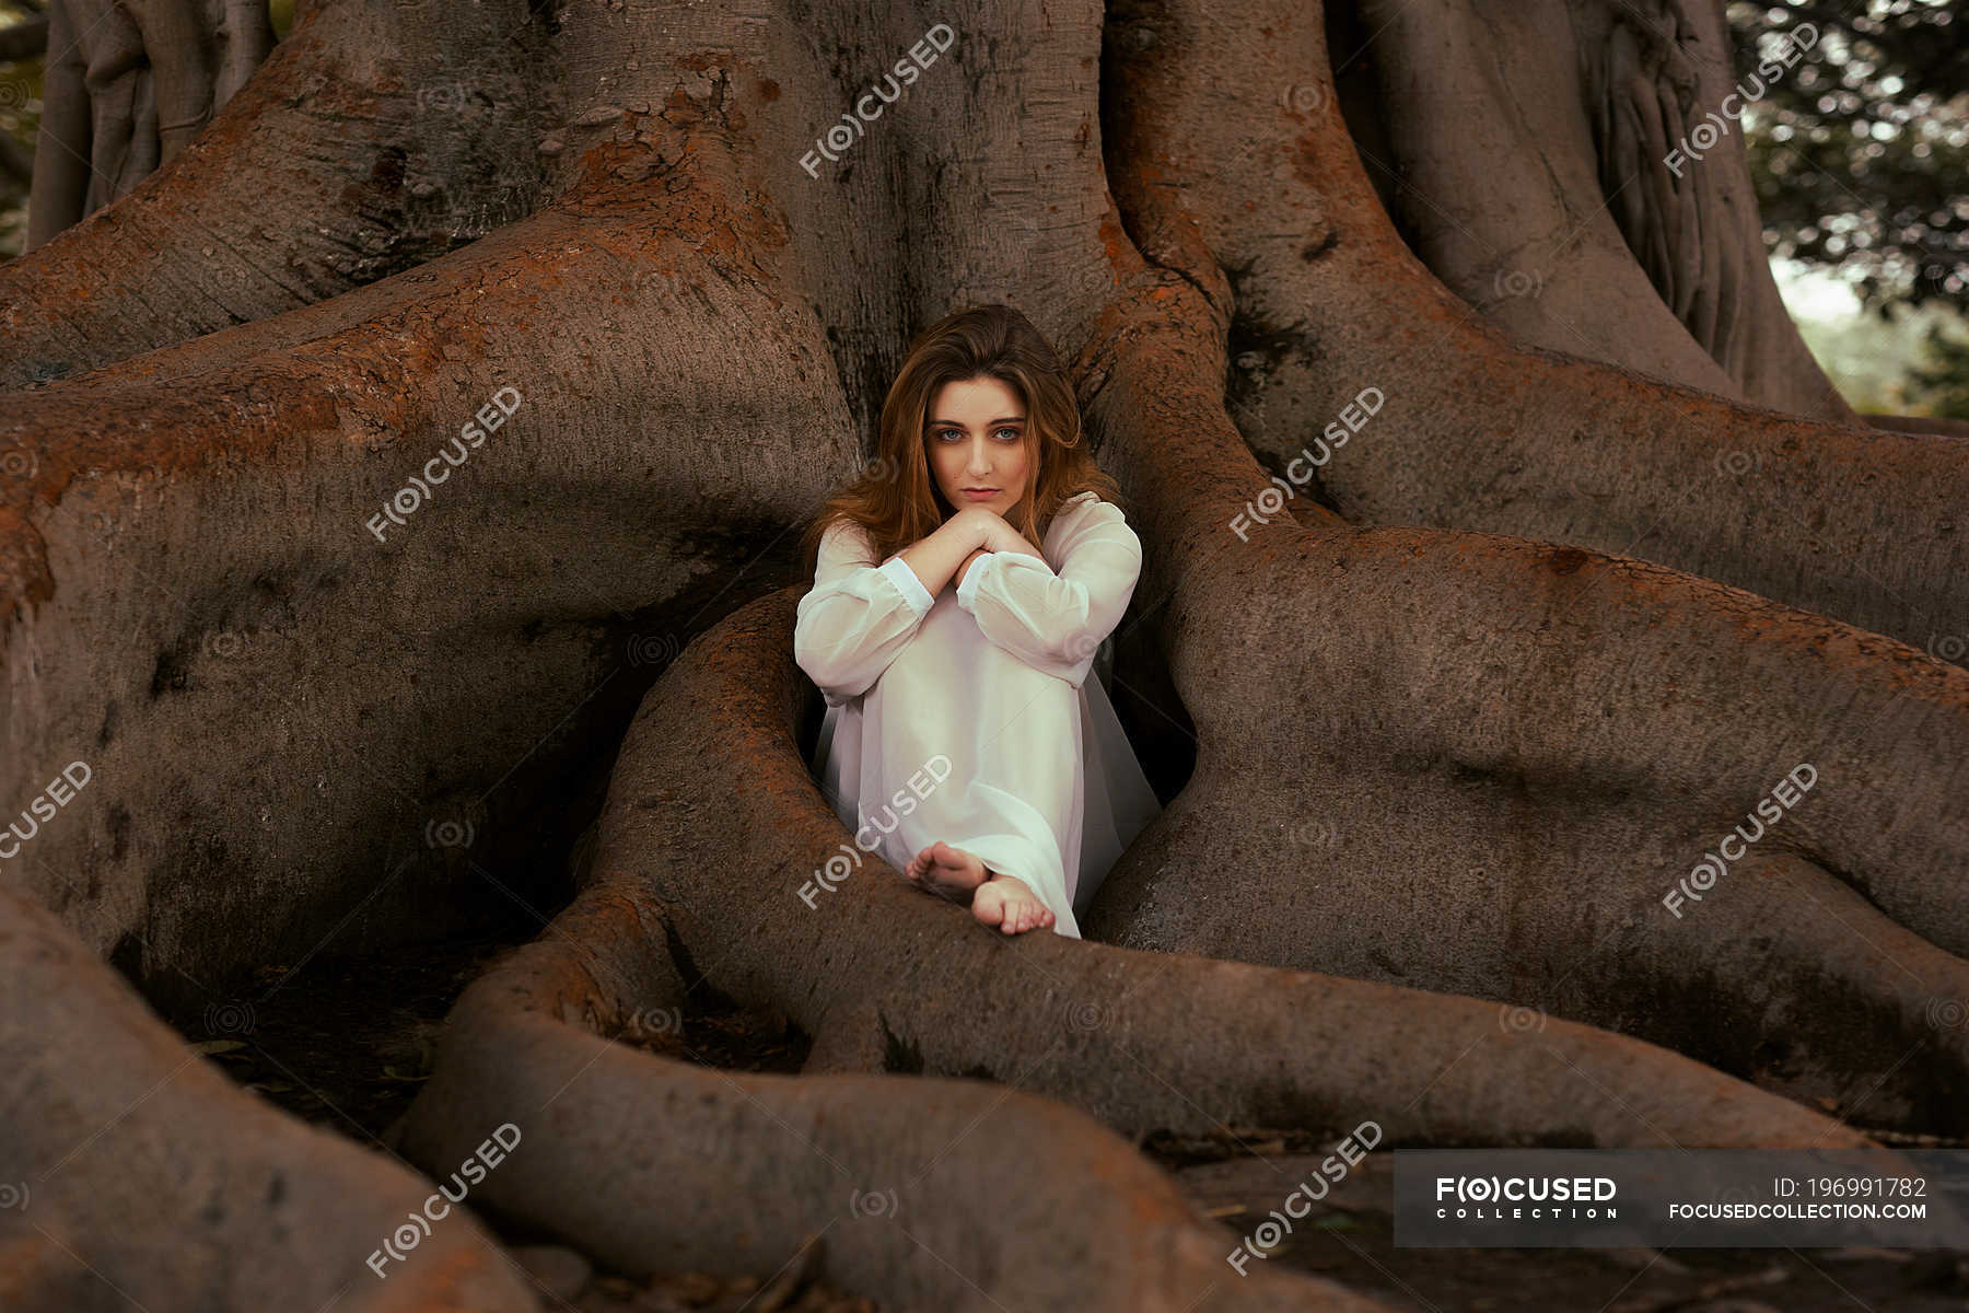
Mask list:
[[[857,846],[902,870],[939,839],[1018,876],[1079,939],[1075,913],[1160,803],[1101,679],[1142,573],[1112,502],[1083,492],[1046,559],[981,555],[931,598],[868,533],[837,522],[799,598],[794,659],[827,699],[813,774]]]

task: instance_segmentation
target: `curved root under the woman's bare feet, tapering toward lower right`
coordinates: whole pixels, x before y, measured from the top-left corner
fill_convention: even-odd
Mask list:
[[[1861,1140],[1632,1039],[1563,1022],[1520,1033],[1494,1004],[1059,935],[1004,941],[878,858],[855,860],[795,740],[811,693],[790,657],[794,600],[754,602],[658,683],[624,740],[595,862],[666,911],[689,986],[807,1030],[811,1071],[990,1077],[1130,1134],[1372,1118],[1410,1144]]]

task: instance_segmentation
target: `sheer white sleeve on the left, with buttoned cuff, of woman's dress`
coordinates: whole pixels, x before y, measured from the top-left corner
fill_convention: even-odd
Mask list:
[[[799,598],[794,661],[839,707],[860,697],[910,646],[935,598],[902,557],[874,563],[874,543],[855,522],[821,535],[813,589]]]

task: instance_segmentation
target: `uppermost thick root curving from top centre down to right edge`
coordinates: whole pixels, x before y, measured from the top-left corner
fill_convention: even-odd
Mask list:
[[[1317,8],[1126,4],[1111,31],[1116,201],[1150,258],[1225,270],[1231,415],[1300,500],[1640,555],[1963,659],[1959,441],[1510,344],[1388,222]],[[1339,427],[1366,388],[1380,411]]]

